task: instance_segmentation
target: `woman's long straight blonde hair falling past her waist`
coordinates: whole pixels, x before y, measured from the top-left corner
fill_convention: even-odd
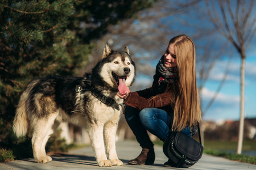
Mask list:
[[[172,129],[180,131],[185,126],[196,126],[201,120],[196,87],[196,49],[193,40],[186,35],[172,38],[169,44],[174,45],[179,70]]]

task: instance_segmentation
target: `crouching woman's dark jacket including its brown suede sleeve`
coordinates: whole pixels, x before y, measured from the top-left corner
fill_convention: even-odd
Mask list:
[[[125,99],[124,103],[130,107],[142,110],[144,108],[160,108],[166,111],[168,114],[172,114],[174,111],[171,101],[171,89],[173,84],[161,83],[158,85],[159,76],[154,75],[154,82],[151,88],[145,90],[130,92]]]

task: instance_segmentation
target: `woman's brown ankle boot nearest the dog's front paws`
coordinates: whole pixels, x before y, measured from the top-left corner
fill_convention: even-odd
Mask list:
[[[154,147],[148,149],[148,148],[142,148],[141,154],[135,159],[132,159],[129,161],[129,164],[133,165],[152,165],[155,162],[155,151]]]

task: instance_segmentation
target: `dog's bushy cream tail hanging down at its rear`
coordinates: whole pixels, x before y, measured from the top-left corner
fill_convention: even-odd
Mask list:
[[[26,101],[28,99],[28,89],[25,90],[19,99],[18,107],[13,121],[13,131],[16,137],[22,137],[27,134],[28,120],[26,111]]]

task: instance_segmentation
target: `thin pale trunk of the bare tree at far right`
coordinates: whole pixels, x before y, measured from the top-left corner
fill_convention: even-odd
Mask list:
[[[241,101],[240,101],[240,125],[238,134],[237,154],[242,154],[243,125],[245,122],[245,58],[241,62]]]

